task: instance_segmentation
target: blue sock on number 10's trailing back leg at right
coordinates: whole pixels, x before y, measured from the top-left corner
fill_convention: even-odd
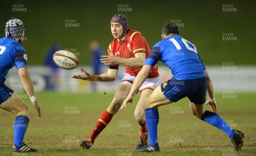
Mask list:
[[[227,124],[227,122],[225,122],[225,120],[221,119],[218,114],[211,111],[205,111],[202,116],[202,120],[224,131],[230,139],[234,137],[233,129]]]

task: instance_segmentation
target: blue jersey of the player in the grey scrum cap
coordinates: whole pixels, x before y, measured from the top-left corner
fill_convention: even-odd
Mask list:
[[[25,49],[12,37],[0,39],[0,82],[4,83],[6,75],[14,65],[26,68],[27,56]]]

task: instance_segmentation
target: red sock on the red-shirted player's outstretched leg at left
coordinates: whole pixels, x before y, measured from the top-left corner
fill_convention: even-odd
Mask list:
[[[102,132],[102,130],[109,124],[111,121],[113,115],[111,113],[108,113],[107,110],[105,110],[102,115],[99,117],[98,122],[96,123],[95,128],[93,129],[93,132],[90,136],[90,139],[92,139],[92,143],[94,143],[94,140],[99,135],[99,133]]]

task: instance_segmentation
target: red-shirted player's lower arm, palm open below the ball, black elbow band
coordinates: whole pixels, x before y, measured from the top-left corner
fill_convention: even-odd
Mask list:
[[[86,71],[84,71],[82,68],[80,68],[80,71],[83,73],[81,75],[74,75],[73,79],[83,79],[88,81],[101,81],[101,82],[111,82],[115,81],[118,73],[118,66],[112,67],[108,69],[108,72],[100,74],[100,75],[90,75]]]

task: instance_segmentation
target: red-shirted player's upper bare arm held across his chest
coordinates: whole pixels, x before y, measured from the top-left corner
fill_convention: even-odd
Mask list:
[[[133,58],[122,58],[122,57],[116,57],[114,54],[111,53],[110,50],[108,50],[109,55],[103,55],[103,59],[100,59],[102,63],[105,63],[105,65],[120,63],[123,65],[128,65],[131,67],[142,67],[145,60],[146,60],[146,54],[145,51],[140,51],[134,54],[135,57]]]

